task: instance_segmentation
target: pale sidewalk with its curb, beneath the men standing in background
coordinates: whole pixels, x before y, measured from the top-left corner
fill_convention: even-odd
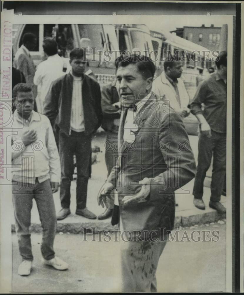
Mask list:
[[[189,136],[190,144],[197,159],[197,136]],[[96,215],[101,214],[104,209],[97,204],[97,194],[101,186],[106,180],[106,165],[104,160],[104,142],[105,133],[98,133],[94,139],[92,145],[98,145],[101,152],[97,153],[97,162],[92,165],[92,177],[88,182],[88,196],[87,196],[87,207],[89,210],[94,212]],[[210,188],[204,187],[203,201],[205,202],[206,209],[199,210],[193,205],[193,184],[194,179],[190,181],[187,185],[183,186],[181,189],[177,190],[176,193],[176,219],[175,228],[179,226],[190,226],[194,224],[204,224],[218,221],[223,219],[225,216],[218,214],[215,210],[208,207],[208,202],[210,198]],[[184,190],[184,191],[183,191]],[[59,192],[54,195],[54,203],[56,207],[56,212],[58,212],[60,207]],[[225,206],[226,197],[221,196],[221,203]],[[70,233],[80,233],[83,232],[83,227],[96,227],[96,230],[117,230],[117,226],[111,225],[111,218],[105,220],[98,219],[87,219],[82,216],[75,214],[76,210],[76,180],[71,183],[71,214],[58,221],[57,232],[70,232]],[[12,231],[15,231],[14,225],[14,212],[12,210]],[[41,224],[39,220],[39,214],[36,207],[36,202],[33,201],[33,208],[31,211],[31,230],[32,232],[41,232]]]

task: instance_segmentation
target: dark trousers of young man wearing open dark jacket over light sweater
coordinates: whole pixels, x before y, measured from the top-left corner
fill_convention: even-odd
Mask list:
[[[67,137],[59,133],[59,155],[61,162],[60,201],[62,208],[70,206],[70,185],[73,180],[74,160],[76,155],[76,209],[86,207],[87,185],[91,174],[91,139],[92,135],[71,130]]]

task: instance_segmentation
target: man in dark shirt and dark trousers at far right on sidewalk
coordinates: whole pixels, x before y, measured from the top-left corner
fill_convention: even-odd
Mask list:
[[[223,51],[216,61],[217,71],[208,76],[197,88],[191,103],[191,112],[200,123],[198,141],[198,167],[193,187],[193,203],[198,209],[205,209],[203,182],[211,164],[213,171],[209,207],[225,213],[220,203],[226,171],[226,79],[227,53]],[[204,111],[201,104],[204,104]]]

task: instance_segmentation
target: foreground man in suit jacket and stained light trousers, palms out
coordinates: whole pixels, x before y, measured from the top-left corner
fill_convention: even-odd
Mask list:
[[[195,176],[196,166],[181,117],[151,92],[152,61],[122,55],[116,67],[123,101],[118,161],[98,204],[104,206],[111,193],[119,205],[122,291],[150,292],[156,291],[158,260],[174,227],[174,191]]]

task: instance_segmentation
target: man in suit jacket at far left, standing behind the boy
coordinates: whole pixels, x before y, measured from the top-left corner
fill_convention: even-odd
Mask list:
[[[26,83],[31,84],[33,97],[36,98],[37,87],[34,85],[34,76],[36,72],[36,67],[31,58],[30,51],[36,47],[37,38],[33,33],[26,33],[22,38],[22,45],[17,50],[14,56],[14,68],[20,70],[25,77]],[[34,107],[35,110],[35,107]]]

